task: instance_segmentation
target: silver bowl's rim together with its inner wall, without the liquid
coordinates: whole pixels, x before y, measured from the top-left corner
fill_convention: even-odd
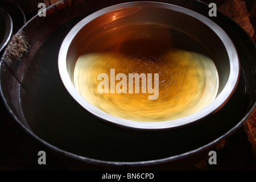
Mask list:
[[[115,17],[114,19],[112,17]],[[98,18],[100,17],[100,18]],[[175,18],[173,18],[175,17]],[[216,99],[204,109],[187,117],[171,121],[140,122],[114,117],[86,101],[73,85],[73,69],[86,42],[92,42],[94,34],[104,34],[103,26],[112,28],[143,23],[162,24],[185,32],[208,50],[220,77],[220,88]],[[129,31],[129,27],[127,27]],[[170,40],[171,41],[171,40]],[[189,39],[177,40],[181,48]],[[114,43],[113,43],[114,44]],[[191,44],[194,48],[193,44]],[[191,124],[220,110],[236,89],[240,75],[240,63],[232,40],[210,19],[183,7],[159,2],[131,2],[107,7],[81,20],[64,39],[59,52],[59,72],[68,92],[79,104],[97,117],[112,123],[136,129],[170,129]]]

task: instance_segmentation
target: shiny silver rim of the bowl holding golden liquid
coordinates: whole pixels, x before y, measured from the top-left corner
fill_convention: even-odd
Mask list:
[[[96,19],[98,16],[104,15],[113,10],[127,8],[127,7],[134,7],[134,6],[160,7],[160,8],[169,9],[172,11],[178,11],[180,13],[187,14],[189,16],[193,16],[193,18],[200,20],[202,23],[206,24],[209,28],[211,28],[216,33],[216,35],[218,35],[218,37],[222,40],[222,43],[226,48],[226,52],[228,53],[228,57],[230,60],[229,61],[230,63],[229,78],[228,78],[228,81],[226,82],[226,85],[220,92],[220,94],[218,94],[215,100],[211,102],[208,106],[204,107],[203,109],[201,109],[200,111],[197,111],[194,114],[188,115],[187,117],[174,119],[171,121],[158,121],[158,122],[131,121],[129,119],[118,118],[108,113],[105,113],[104,111],[90,104],[88,101],[85,100],[84,97],[80,95],[79,92],[77,92],[69,76],[69,73],[67,70],[67,59],[66,59],[68,54],[68,49],[73,38],[75,38],[75,36],[81,30],[82,27],[84,27],[87,23],[91,22],[92,20]],[[238,59],[238,53],[232,40],[229,38],[226,32],[220,26],[214,23],[212,20],[210,20],[206,16],[196,13],[195,11],[185,9],[184,7],[171,5],[163,2],[148,2],[148,1],[120,3],[117,5],[105,7],[104,9],[98,10],[95,13],[92,13],[89,16],[86,16],[79,23],[77,23],[71,29],[71,31],[69,31],[69,33],[61,43],[59,57],[58,57],[58,68],[59,68],[59,75],[60,75],[61,81],[65,86],[65,89],[67,89],[68,93],[71,94],[71,96],[82,107],[84,107],[84,109],[88,110],[90,113],[94,114],[96,117],[102,119],[103,121],[108,121],[119,126],[129,127],[131,129],[147,129],[147,130],[148,129],[150,130],[173,129],[177,127],[187,126],[188,124],[201,121],[205,117],[208,117],[209,115],[216,113],[226,104],[226,102],[228,102],[229,98],[232,96],[232,94],[236,90],[239,76],[240,76],[240,69],[241,69],[240,60]]]

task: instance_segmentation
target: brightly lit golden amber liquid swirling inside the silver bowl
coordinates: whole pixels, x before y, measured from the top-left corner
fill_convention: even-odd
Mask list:
[[[115,117],[158,122],[196,113],[216,98],[218,73],[213,60],[200,53],[174,48],[161,27],[150,31],[155,32],[154,35],[135,35],[132,40],[79,56],[73,82],[86,101]],[[118,34],[113,35],[113,40],[117,39],[115,35]],[[100,40],[94,42],[100,45]],[[110,93],[111,79],[115,86],[120,81],[111,78],[110,69],[115,70],[115,76],[118,73],[127,76],[127,93],[117,93],[116,90]],[[109,77],[109,93],[98,92],[98,84],[102,81],[97,79],[100,73]],[[142,93],[143,80],[139,85],[135,82],[133,85],[134,90],[139,86],[139,93],[129,93],[129,73],[152,73],[152,88],[154,73],[158,73],[158,98],[150,100],[148,96],[152,93]]]

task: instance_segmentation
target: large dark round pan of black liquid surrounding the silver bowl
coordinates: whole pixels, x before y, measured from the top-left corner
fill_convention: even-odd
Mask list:
[[[73,169],[187,169],[238,130],[255,107],[256,51],[246,32],[227,16],[211,18],[235,44],[241,61],[236,92],[216,114],[195,125],[158,132],[109,125],[86,112],[61,83],[57,56],[79,20],[127,1],[61,1],[46,17],[32,18],[9,43],[1,62],[1,93],[15,120]],[[200,1],[173,3],[208,16]],[[22,46],[15,46],[17,44]],[[10,46],[14,50],[11,53]]]

